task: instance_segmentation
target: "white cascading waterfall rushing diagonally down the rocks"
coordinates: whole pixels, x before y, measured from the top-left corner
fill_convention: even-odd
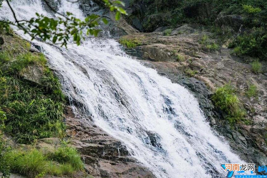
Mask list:
[[[61,4],[59,11],[83,18],[77,4]],[[11,5],[19,19],[35,12],[51,15],[40,0],[12,0]],[[5,3],[1,14],[13,20]],[[70,100],[82,103],[95,124],[121,140],[156,177],[224,177],[220,164],[243,162],[210,129],[189,91],[126,55],[115,40],[88,38],[68,49],[35,42],[61,76]]]

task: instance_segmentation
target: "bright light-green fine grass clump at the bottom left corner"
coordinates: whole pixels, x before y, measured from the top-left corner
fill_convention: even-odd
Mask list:
[[[61,148],[61,147],[60,147]],[[70,148],[70,147],[66,147]],[[76,149],[66,154],[57,155],[57,159],[51,159],[40,150],[11,150],[5,153],[4,161],[10,167],[10,171],[27,177],[41,177],[44,175],[72,176],[75,171],[83,170],[83,162]],[[72,162],[75,158],[75,162]],[[79,166],[74,167],[75,163]]]

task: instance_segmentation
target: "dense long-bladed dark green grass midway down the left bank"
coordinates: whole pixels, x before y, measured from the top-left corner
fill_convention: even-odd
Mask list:
[[[0,85],[0,108],[6,112],[6,131],[19,143],[63,137],[66,126],[63,104],[38,87],[4,76]]]

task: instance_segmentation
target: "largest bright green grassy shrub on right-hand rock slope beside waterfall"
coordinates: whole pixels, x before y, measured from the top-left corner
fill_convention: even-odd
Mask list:
[[[219,87],[214,95],[212,101],[215,106],[228,114],[227,120],[234,124],[245,116],[244,109],[241,108],[241,103],[235,95],[235,90],[230,84]]]

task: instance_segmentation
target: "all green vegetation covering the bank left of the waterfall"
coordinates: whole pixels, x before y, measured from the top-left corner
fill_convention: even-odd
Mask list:
[[[10,172],[41,177],[72,176],[83,170],[75,148],[62,144],[49,153],[35,148],[38,139],[66,136],[65,96],[42,53],[30,52],[31,44],[6,24],[0,25],[0,32],[0,172],[4,177]],[[24,79],[30,67],[40,70],[39,83]],[[11,147],[3,134],[12,136],[16,145],[28,146]]]

